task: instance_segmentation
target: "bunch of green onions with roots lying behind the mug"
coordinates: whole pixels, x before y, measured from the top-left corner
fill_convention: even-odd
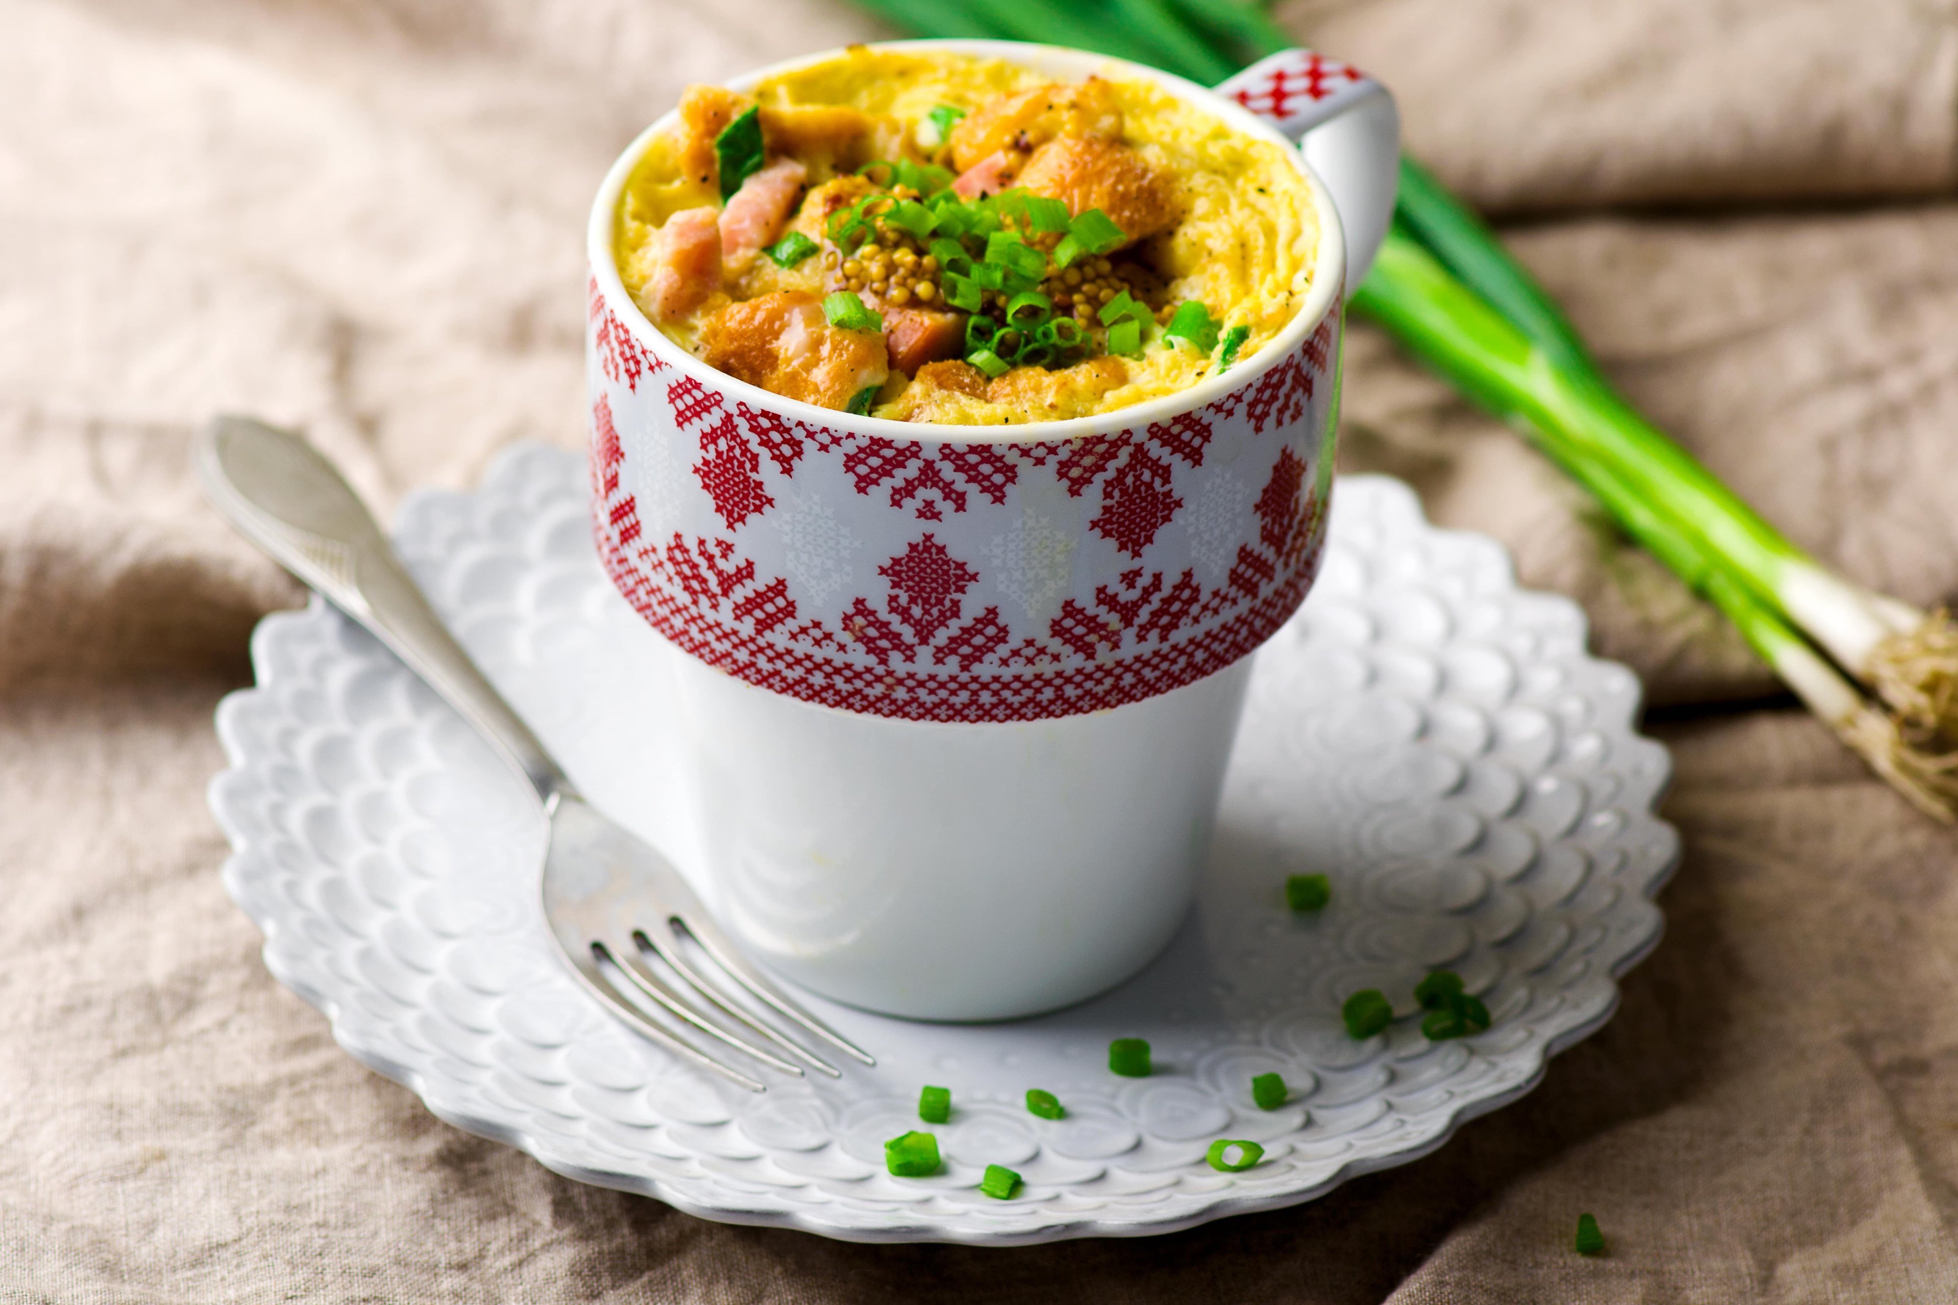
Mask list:
[[[1073,45],[1204,84],[1296,45],[1241,0],[860,4],[918,35]],[[1353,307],[1519,425],[1886,781],[1935,816],[1958,810],[1958,759],[1933,743],[1935,734],[1958,740],[1958,622],[1825,567],[1653,427],[1535,278],[1412,158],[1402,158],[1396,221]]]

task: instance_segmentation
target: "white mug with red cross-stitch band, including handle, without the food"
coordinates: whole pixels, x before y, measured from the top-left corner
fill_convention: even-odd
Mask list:
[[[897,45],[1114,67],[1247,135],[1306,137],[1318,205],[1304,307],[1228,374],[1098,417],[934,427],[768,393],[640,315],[613,223],[672,115],[599,188],[593,520],[674,650],[648,673],[687,716],[703,888],[816,992],[997,1019],[1120,982],[1189,910],[1251,653],[1318,569],[1339,292],[1386,229],[1398,119],[1310,51],[1204,90],[1079,51]]]

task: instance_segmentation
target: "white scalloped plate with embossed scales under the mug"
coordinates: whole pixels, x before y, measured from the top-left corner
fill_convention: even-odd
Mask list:
[[[572,454],[513,450],[478,493],[411,499],[399,546],[578,787],[691,867],[664,677],[646,669],[672,653],[599,573],[583,479]],[[1210,873],[1171,949],[1118,992],[1006,1025],[809,998],[879,1057],[842,1082],[752,1096],[597,1010],[542,927],[527,788],[317,599],[258,626],[258,687],[217,710],[225,886],[349,1053],[570,1178],[852,1240],[1187,1229],[1406,1164],[1529,1092],[1611,1015],[1678,857],[1653,816],[1668,759],[1633,730],[1633,675],[1584,653],[1572,603],[1519,591],[1494,542],[1431,528],[1398,481],[1341,479],[1318,587],[1259,659]],[[1318,918],[1284,908],[1300,871],[1331,877]],[[1484,996],[1488,1033],[1422,1037],[1406,1012],[1433,967]],[[1357,988],[1404,1017],[1351,1041],[1337,1012]],[[1157,1074],[1112,1076],[1114,1037],[1147,1037]],[[1292,1086],[1277,1111],[1251,1103],[1265,1070]],[[946,1166],[891,1178],[883,1141],[926,1127],[926,1082],[954,1096],[934,1129]],[[1028,1088],[1067,1117],[1028,1115]],[[1208,1168],[1218,1137],[1261,1143],[1263,1162]],[[1022,1193],[981,1195],[987,1164],[1024,1174]]]

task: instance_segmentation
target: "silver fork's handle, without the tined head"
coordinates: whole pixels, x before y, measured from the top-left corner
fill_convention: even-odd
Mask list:
[[[572,783],[429,607],[339,470],[290,430],[217,417],[198,440],[204,493],[245,538],[366,626],[488,736],[550,804]]]

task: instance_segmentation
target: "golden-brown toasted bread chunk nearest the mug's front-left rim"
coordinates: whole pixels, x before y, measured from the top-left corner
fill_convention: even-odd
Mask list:
[[[789,399],[848,409],[891,376],[883,337],[844,331],[822,317],[822,301],[803,292],[728,303],[701,327],[707,366]]]

